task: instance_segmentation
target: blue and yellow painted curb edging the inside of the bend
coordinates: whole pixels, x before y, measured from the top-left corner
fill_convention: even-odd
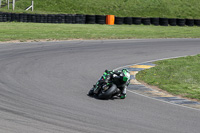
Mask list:
[[[171,94],[167,94],[167,93],[152,89],[150,87],[147,87],[141,84],[140,82],[136,80],[135,77],[139,71],[144,70],[144,69],[149,69],[155,66],[156,65],[153,64],[152,62],[147,62],[147,63],[141,63],[141,64],[131,65],[131,66],[126,67],[126,69],[128,69],[131,74],[131,81],[130,81],[130,85],[128,86],[128,90],[153,98],[153,99],[163,101],[163,102],[168,102],[168,103],[185,106],[189,108],[195,108],[198,110],[200,109],[199,102],[191,101],[186,98],[173,96]]]

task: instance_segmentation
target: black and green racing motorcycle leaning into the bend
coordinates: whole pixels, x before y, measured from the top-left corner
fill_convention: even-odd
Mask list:
[[[111,99],[119,94],[120,90],[113,83],[111,76],[107,73],[98,80],[94,87],[89,91],[88,95],[93,95],[98,99]]]

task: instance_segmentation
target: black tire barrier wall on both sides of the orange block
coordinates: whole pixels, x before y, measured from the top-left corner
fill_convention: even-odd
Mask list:
[[[0,22],[105,24],[105,15],[79,14],[17,14],[0,12]],[[200,26],[200,19],[115,17],[115,24],[161,25],[161,26]]]

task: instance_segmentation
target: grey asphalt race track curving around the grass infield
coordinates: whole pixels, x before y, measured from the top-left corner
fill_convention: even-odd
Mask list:
[[[198,53],[200,39],[0,43],[0,133],[199,133],[199,110],[87,96],[105,69]]]

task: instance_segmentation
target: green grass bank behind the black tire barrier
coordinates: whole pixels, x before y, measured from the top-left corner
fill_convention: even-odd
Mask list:
[[[200,18],[199,0],[35,0],[34,3],[34,13]],[[31,0],[18,0],[15,11],[25,12],[30,5]],[[8,10],[5,7],[0,11]]]

